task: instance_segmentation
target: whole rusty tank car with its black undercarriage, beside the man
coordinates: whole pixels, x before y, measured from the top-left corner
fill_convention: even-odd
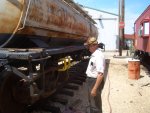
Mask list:
[[[22,113],[61,88],[87,53],[83,42],[97,37],[94,24],[72,0],[1,0],[0,113]]]

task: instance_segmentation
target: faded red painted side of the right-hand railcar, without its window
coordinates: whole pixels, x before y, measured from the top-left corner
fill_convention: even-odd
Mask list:
[[[139,29],[143,22],[149,23],[149,35],[139,36]],[[135,47],[144,52],[150,52],[150,5],[135,21]]]

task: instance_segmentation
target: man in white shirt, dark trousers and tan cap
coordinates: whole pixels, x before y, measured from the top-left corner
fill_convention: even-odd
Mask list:
[[[105,58],[95,37],[88,38],[84,45],[92,53],[86,70],[90,113],[102,113],[101,90],[104,85]]]

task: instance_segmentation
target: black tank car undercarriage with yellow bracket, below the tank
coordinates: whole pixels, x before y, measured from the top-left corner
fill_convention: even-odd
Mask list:
[[[54,94],[71,77],[84,46],[0,50],[0,112],[22,113],[27,105]]]

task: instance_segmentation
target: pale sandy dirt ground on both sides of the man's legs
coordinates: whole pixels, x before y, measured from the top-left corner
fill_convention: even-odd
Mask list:
[[[113,58],[118,52],[104,54],[107,67],[101,95],[103,113],[150,113],[150,74],[145,67],[141,65],[140,78],[132,80],[128,78],[129,58]],[[74,97],[70,97],[72,101],[66,108],[73,106],[77,111],[73,113],[86,113],[89,105],[86,87],[85,82]]]

